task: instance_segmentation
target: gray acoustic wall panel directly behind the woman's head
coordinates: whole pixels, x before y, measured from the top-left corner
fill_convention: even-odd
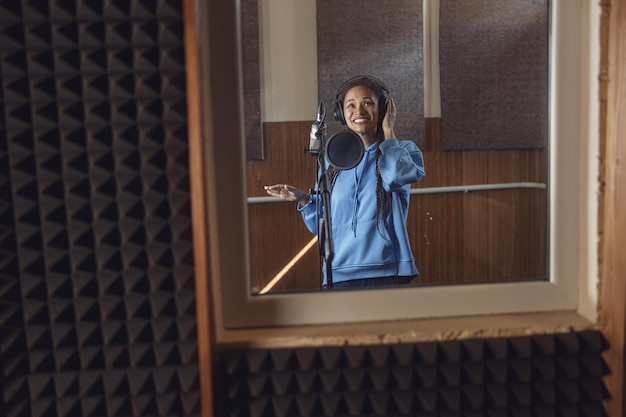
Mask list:
[[[345,129],[333,118],[337,90],[351,77],[370,75],[396,102],[396,135],[424,145],[422,39],[421,0],[317,0],[318,89],[327,104],[329,137]]]

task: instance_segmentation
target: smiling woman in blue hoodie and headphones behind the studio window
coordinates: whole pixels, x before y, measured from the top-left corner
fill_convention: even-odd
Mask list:
[[[365,152],[349,170],[328,167],[334,255],[332,285],[359,288],[408,284],[418,275],[406,229],[411,184],[424,175],[422,151],[398,140],[396,105],[385,85],[369,76],[346,81],[337,92],[335,117],[355,132]],[[297,201],[307,228],[318,232],[319,195],[288,184],[266,186],[271,196]]]

